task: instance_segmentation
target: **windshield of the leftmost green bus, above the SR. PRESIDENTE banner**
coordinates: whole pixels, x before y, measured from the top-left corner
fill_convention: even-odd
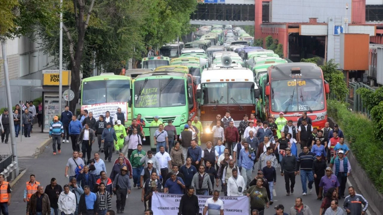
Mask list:
[[[128,102],[130,80],[86,81],[82,84],[82,105]]]

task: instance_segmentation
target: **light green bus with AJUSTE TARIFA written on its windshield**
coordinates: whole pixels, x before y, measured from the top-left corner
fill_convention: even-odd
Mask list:
[[[145,121],[145,135],[149,135],[149,125],[154,116],[159,116],[164,124],[172,120],[180,134],[187,120],[197,115],[196,84],[190,74],[175,71],[148,72],[137,76],[132,88],[133,117],[141,114]]]

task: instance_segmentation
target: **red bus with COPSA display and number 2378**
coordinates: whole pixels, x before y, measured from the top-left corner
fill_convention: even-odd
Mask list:
[[[279,112],[287,120],[298,122],[303,111],[311,118],[313,127],[322,129],[327,122],[326,93],[329,84],[320,67],[313,63],[288,63],[268,68],[265,81],[265,115],[275,120]]]

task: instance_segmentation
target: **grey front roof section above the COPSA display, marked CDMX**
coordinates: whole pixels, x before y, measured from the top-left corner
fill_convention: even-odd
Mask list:
[[[292,71],[292,69],[296,71]],[[278,64],[269,68],[273,80],[291,78],[323,78],[322,70],[313,63]],[[294,73],[294,74],[293,74]]]

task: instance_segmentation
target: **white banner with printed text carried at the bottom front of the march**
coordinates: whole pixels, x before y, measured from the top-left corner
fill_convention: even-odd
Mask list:
[[[153,193],[152,211],[155,215],[177,215],[182,195]],[[203,213],[206,199],[211,195],[197,195],[200,204],[200,213]],[[249,214],[249,197],[244,196],[220,196],[223,201],[225,215]]]

